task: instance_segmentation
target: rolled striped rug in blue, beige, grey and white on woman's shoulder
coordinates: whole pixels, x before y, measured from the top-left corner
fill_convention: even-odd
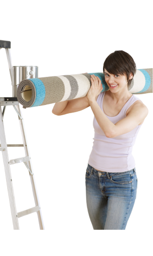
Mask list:
[[[22,80],[18,85],[17,100],[23,109],[27,109],[85,97],[91,87],[92,74],[100,78],[101,92],[108,91],[103,72],[47,76]],[[129,91],[133,94],[153,93],[153,68],[137,69]]]

